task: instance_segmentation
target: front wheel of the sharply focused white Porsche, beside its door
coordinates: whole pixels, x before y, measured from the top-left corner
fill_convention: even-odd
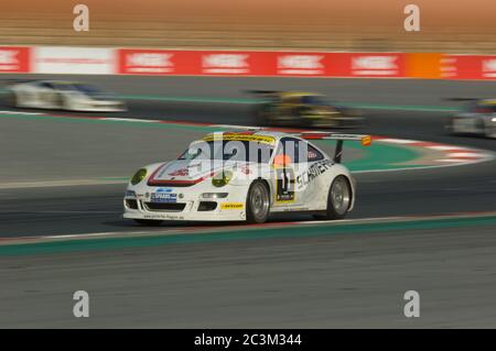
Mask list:
[[[270,213],[270,191],[262,180],[255,180],[248,189],[246,199],[246,220],[248,223],[265,223]]]

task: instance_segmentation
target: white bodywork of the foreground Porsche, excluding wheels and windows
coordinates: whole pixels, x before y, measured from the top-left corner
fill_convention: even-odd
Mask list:
[[[315,145],[311,144],[317,149]],[[319,150],[319,149],[317,149]],[[322,152],[321,150],[319,150]],[[147,177],[137,185],[128,185],[125,197],[125,218],[147,219],[147,220],[200,220],[200,221],[231,221],[246,220],[247,218],[247,197],[251,183],[255,179],[267,182],[270,189],[270,212],[288,211],[325,211],[327,208],[327,196],[333,180],[342,175],[349,180],[352,189],[352,201],[349,210],[353,209],[355,201],[355,180],[349,171],[342,164],[334,163],[325,153],[323,160],[310,163],[291,164],[294,194],[289,196],[290,200],[278,200],[278,194],[281,194],[281,172],[272,165],[272,160],[268,164],[256,164],[246,162],[215,161],[212,167],[205,166],[198,161],[176,160],[169,163],[159,163],[148,165]],[[195,169],[201,168],[201,172]],[[233,179],[223,187],[215,187],[212,184],[212,174],[222,169],[231,171]],[[257,176],[247,176],[247,173]],[[279,179],[279,187],[278,187]],[[163,185],[160,183],[162,182]],[[181,186],[181,182],[188,182],[191,185]],[[176,185],[174,185],[176,184]],[[279,190],[278,190],[279,188]],[[285,190],[284,190],[285,191]],[[160,198],[166,199],[170,204],[184,205],[180,210],[157,210],[149,206],[157,200],[158,194],[164,194]],[[204,199],[202,194],[216,193],[227,194],[225,198]],[[136,201],[136,207],[129,206]],[[200,202],[215,201],[217,206],[214,210],[198,210]],[[176,206],[176,205],[173,205]]]

